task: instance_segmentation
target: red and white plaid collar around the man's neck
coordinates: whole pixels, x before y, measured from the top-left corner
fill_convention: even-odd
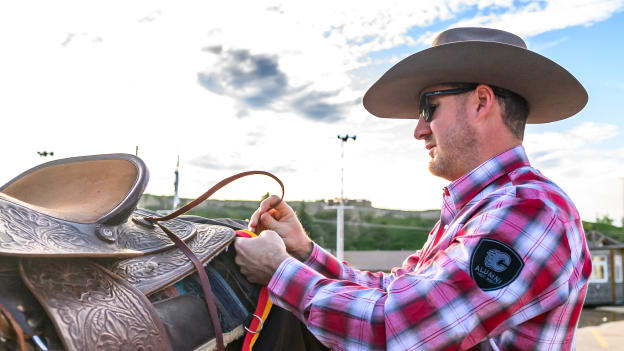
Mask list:
[[[459,210],[475,195],[501,176],[522,166],[530,166],[522,145],[513,147],[485,161],[448,185],[448,197]]]

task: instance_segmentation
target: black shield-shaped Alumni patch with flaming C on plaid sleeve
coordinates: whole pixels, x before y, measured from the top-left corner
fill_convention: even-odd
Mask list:
[[[470,276],[483,291],[511,284],[524,267],[520,256],[508,245],[481,239],[470,257]]]

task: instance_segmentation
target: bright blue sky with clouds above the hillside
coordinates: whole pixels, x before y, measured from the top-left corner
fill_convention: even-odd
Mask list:
[[[440,208],[415,120],[380,119],[362,96],[448,28],[520,35],[586,88],[567,120],[527,127],[532,162],[586,220],[624,216],[624,0],[5,1],[0,3],[4,183],[52,159],[138,155],[147,193],[193,198],[231,174],[267,170],[286,200],[367,199]],[[338,135],[357,135],[342,145]],[[37,152],[52,151],[53,157]],[[279,187],[239,180],[214,195]]]

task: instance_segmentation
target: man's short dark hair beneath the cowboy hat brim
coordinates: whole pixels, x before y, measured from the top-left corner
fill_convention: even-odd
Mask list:
[[[457,88],[476,88],[477,83],[449,83],[449,85],[456,86]],[[518,139],[524,139],[524,128],[526,126],[527,118],[529,117],[529,103],[520,95],[514,93],[511,90],[499,88],[497,86],[487,84],[498,103],[502,107],[503,122],[505,126],[511,131],[511,133]]]

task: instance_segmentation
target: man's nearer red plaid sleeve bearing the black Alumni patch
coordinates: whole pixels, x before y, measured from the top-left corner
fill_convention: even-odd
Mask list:
[[[508,247],[522,261],[504,286],[488,275],[493,268],[485,275],[493,289],[473,279],[477,255],[493,253],[491,267],[511,262],[502,246],[498,253],[481,252],[484,239]],[[573,270],[569,258],[564,224],[539,201],[528,201],[473,217],[445,249],[397,275],[385,290],[340,279],[341,274],[328,277],[292,258],[282,262],[268,288],[275,304],[334,350],[467,349],[509,327],[505,323],[565,302]]]

